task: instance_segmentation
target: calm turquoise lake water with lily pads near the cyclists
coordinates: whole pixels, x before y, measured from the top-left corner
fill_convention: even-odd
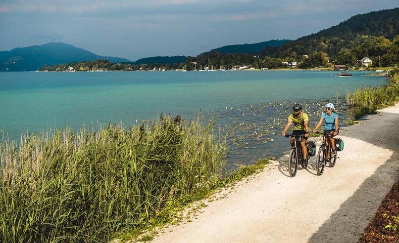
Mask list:
[[[228,134],[230,165],[288,150],[278,136],[292,104],[304,104],[311,125],[333,102],[343,124],[344,95],[383,77],[337,77],[333,71],[0,72],[0,129],[11,139],[50,128],[100,123],[126,126],[161,112],[189,119],[202,110]]]

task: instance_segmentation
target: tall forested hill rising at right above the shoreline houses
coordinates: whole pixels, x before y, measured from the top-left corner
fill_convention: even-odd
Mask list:
[[[374,49],[387,46],[384,44],[386,39],[399,34],[398,20],[399,8],[358,14],[338,25],[288,42],[281,48],[266,48],[261,56],[295,58],[324,52],[335,59],[344,49],[350,50],[357,58],[381,56],[383,50]]]

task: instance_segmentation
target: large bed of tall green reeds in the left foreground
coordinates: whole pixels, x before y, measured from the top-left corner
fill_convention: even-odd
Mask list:
[[[217,181],[226,145],[212,123],[160,117],[140,127],[67,128],[0,144],[0,239],[106,242],[168,200]]]

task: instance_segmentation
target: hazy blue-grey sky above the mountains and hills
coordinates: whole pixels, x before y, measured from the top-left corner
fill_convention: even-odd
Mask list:
[[[296,39],[397,0],[0,0],[0,51],[63,42],[135,61]]]

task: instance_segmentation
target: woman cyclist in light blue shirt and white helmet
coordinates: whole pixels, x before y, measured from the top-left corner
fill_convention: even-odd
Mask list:
[[[320,127],[322,124],[323,120],[325,120],[325,126],[324,126],[324,134],[330,134],[330,142],[332,145],[332,151],[331,155],[335,155],[335,141],[334,138],[335,136],[338,135],[339,130],[338,130],[338,115],[334,111],[334,105],[332,103],[327,103],[325,105],[326,112],[324,112],[319,120],[319,123],[316,125],[315,129],[312,131],[313,133],[316,133],[317,129]]]

